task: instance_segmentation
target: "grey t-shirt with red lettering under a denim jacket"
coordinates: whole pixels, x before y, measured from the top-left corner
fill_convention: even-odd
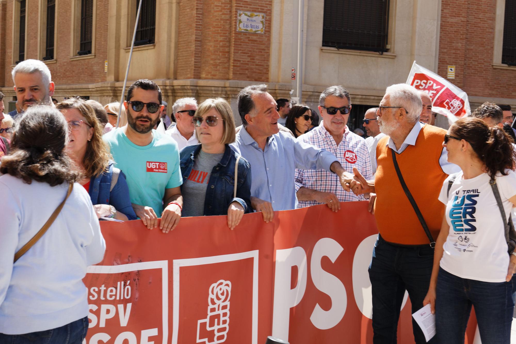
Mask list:
[[[202,149],[197,154],[193,162],[190,175],[183,184],[183,211],[181,216],[203,216],[204,199],[208,186],[209,176],[212,174],[213,167],[217,165],[224,153],[211,154],[203,152]]]

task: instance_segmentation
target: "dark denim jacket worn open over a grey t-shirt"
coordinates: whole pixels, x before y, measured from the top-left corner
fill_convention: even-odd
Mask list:
[[[201,150],[201,145],[186,146],[180,152],[181,175],[187,180],[193,167],[193,162]],[[235,164],[238,153],[229,145],[225,145],[224,155],[220,162],[213,167],[206,187],[204,198],[204,215],[227,215],[231,202],[237,201],[246,213],[251,210],[251,166],[243,157],[238,161],[238,180],[236,198],[233,198],[235,184]],[[183,185],[181,185],[183,190]]]

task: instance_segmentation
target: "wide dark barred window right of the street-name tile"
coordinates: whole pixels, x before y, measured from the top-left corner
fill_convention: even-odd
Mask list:
[[[325,0],[322,45],[386,52],[389,0]]]

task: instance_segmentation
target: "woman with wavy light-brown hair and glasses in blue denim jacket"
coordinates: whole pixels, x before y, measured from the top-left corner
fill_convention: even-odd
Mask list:
[[[125,175],[114,167],[109,149],[102,139],[103,126],[93,108],[80,98],[57,105],[70,127],[68,152],[84,175],[79,183],[88,191],[99,217],[136,220]]]

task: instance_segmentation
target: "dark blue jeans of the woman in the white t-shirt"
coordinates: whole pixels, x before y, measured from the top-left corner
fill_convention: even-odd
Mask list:
[[[510,344],[514,302],[510,282],[482,282],[439,268],[436,291],[436,336],[463,344],[471,306],[475,307],[482,344]]]

